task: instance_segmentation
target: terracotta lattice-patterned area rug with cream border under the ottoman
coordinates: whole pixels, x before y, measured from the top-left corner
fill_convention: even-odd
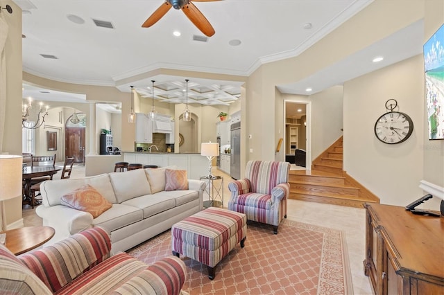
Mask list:
[[[187,265],[185,292],[194,294],[352,294],[350,265],[341,231],[283,220],[272,227],[248,222],[245,247],[238,244],[216,266],[180,256]],[[171,231],[128,250],[148,264],[171,255]]]

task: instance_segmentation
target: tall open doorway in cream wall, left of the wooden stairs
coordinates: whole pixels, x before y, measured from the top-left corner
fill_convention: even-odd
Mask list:
[[[310,170],[310,113],[311,103],[284,101],[284,149],[291,168]]]

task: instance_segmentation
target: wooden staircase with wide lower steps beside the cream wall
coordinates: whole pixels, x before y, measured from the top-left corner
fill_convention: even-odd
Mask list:
[[[342,166],[342,136],[316,158],[311,170],[290,170],[290,199],[364,208],[379,198],[350,177]]]

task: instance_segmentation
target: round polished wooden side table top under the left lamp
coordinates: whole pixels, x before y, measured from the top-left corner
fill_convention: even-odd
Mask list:
[[[50,226],[26,226],[1,233],[6,233],[6,248],[19,255],[48,242],[56,231]]]

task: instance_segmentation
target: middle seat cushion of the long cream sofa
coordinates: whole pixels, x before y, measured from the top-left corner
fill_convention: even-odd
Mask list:
[[[122,204],[142,209],[142,211],[144,211],[144,218],[148,218],[176,206],[176,201],[173,197],[161,194],[162,193],[157,193],[155,195],[135,197],[128,199],[128,201]]]

